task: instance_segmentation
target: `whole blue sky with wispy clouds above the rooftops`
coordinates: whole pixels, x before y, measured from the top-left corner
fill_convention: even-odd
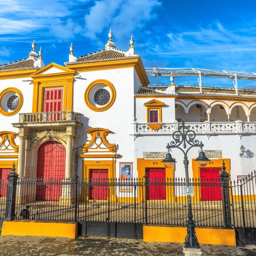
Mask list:
[[[0,63],[28,56],[33,39],[45,63],[104,48],[111,27],[118,49],[134,35],[149,67],[256,72],[256,1],[2,0]]]

